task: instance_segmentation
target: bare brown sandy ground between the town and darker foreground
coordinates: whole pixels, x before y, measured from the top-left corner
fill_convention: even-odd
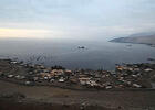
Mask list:
[[[155,90],[75,91],[54,87],[28,87],[0,80],[0,94],[22,92],[27,100],[48,103],[86,103],[123,110],[155,110]]]

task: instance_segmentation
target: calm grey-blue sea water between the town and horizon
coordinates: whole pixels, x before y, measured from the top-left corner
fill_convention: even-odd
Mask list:
[[[0,40],[0,57],[17,58],[45,66],[114,69],[115,64],[146,63],[155,58],[155,47],[107,41]],[[85,46],[79,50],[78,46]]]

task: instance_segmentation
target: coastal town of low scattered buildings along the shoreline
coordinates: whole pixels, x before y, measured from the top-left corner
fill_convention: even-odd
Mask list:
[[[54,86],[75,90],[154,88],[155,64],[116,65],[115,70],[70,70],[0,59],[0,79],[25,86]]]

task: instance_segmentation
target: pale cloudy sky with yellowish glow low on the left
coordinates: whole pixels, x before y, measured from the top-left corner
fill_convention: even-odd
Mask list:
[[[0,0],[0,37],[111,38],[155,31],[155,0]]]

